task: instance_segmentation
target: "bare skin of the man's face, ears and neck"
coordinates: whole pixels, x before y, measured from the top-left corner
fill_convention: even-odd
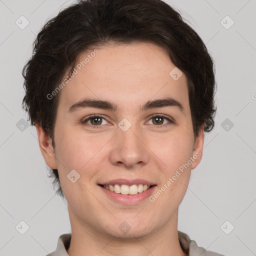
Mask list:
[[[178,206],[191,169],[201,160],[204,139],[203,126],[197,137],[193,134],[186,77],[172,79],[169,72],[174,64],[154,44],[107,44],[97,49],[95,57],[60,91],[55,150],[36,125],[44,160],[58,169],[67,200],[72,229],[67,253],[186,255],[177,235]],[[80,60],[90,52],[80,54]],[[176,106],[138,111],[146,101],[166,96],[178,100],[184,111]],[[118,110],[90,107],[68,112],[85,97],[111,101]],[[100,125],[93,118],[82,124],[91,114],[105,119]],[[163,114],[175,123],[164,119],[158,124],[152,114]],[[123,118],[131,123],[127,131],[118,127]],[[117,203],[97,185],[114,178],[142,178],[157,184],[156,192],[196,152],[200,152],[197,159],[153,202],[146,198],[134,205]],[[66,177],[72,169],[80,174],[74,183]],[[127,233],[118,228],[123,221],[131,227]]]

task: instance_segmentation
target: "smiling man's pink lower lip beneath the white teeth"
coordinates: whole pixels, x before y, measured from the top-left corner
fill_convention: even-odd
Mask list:
[[[150,196],[150,194],[153,192],[153,190],[156,187],[156,185],[154,185],[154,186],[148,188],[147,190],[145,190],[141,193],[137,193],[137,194],[118,194],[118,193],[110,191],[100,185],[98,185],[98,186],[111,199],[113,199],[114,201],[120,202],[120,203],[124,203],[124,204],[135,204],[135,203],[143,201],[144,199],[146,199]]]

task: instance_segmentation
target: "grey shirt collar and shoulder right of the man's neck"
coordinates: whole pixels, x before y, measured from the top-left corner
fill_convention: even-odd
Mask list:
[[[178,231],[178,240],[182,250],[188,256],[224,256],[223,254],[199,247],[194,240],[191,240],[186,233],[181,231]]]

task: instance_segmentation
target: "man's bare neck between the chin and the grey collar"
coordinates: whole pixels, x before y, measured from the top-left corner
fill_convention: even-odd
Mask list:
[[[69,256],[185,256],[177,234],[177,210],[158,230],[136,236],[113,236],[97,230],[87,223],[81,223],[69,212],[71,241],[67,249]]]

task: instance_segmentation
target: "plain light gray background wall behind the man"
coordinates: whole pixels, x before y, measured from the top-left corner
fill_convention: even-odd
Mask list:
[[[51,187],[35,127],[18,127],[27,119],[21,69],[32,41],[44,22],[71,2],[0,0],[0,255],[45,256],[60,234],[70,232],[66,203]],[[178,230],[207,250],[256,255],[256,1],[166,2],[206,43],[217,80],[215,128],[206,133],[202,161],[192,170]],[[24,29],[15,24],[21,15],[29,21]],[[227,15],[234,21],[228,29]],[[21,220],[29,226],[24,234],[15,228]]]

